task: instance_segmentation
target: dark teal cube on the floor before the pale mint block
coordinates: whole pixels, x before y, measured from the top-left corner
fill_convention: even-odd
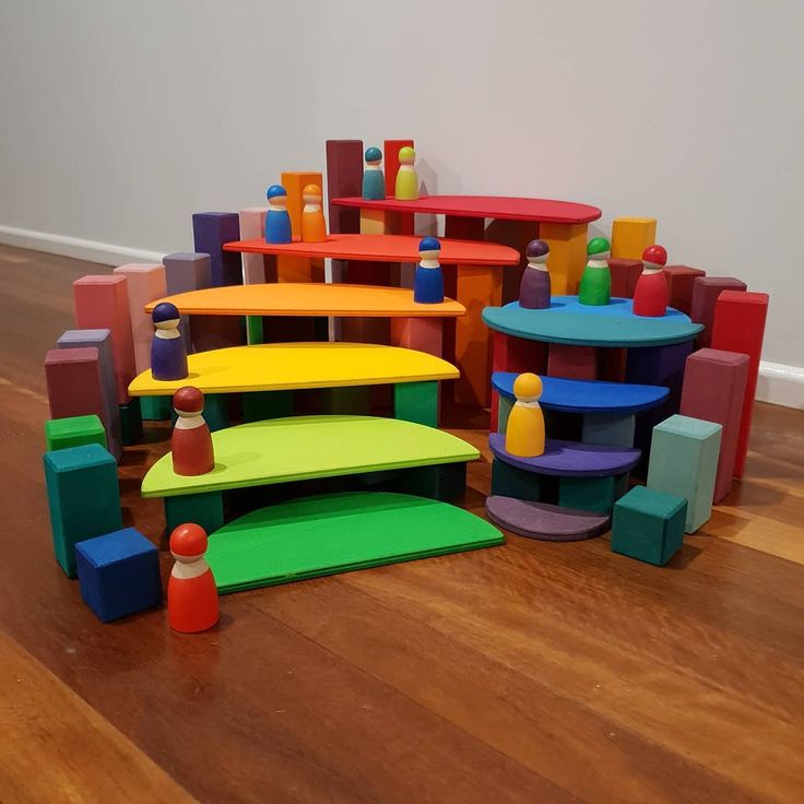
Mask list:
[[[614,506],[612,549],[662,567],[684,542],[686,515],[684,498],[635,486]]]

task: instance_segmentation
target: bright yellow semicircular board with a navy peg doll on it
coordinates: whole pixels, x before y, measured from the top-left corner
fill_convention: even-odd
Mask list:
[[[162,397],[190,385],[204,393],[280,391],[451,380],[458,369],[440,357],[370,343],[265,343],[188,355],[189,375],[155,380],[143,371],[132,397]]]

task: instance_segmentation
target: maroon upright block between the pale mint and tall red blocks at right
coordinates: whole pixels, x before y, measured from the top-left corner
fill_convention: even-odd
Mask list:
[[[714,480],[716,503],[732,487],[748,366],[748,355],[701,348],[687,357],[684,369],[682,415],[723,426]]]

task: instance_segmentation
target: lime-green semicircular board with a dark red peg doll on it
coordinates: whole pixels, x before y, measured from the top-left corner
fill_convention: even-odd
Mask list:
[[[480,457],[472,445],[435,427],[374,416],[272,418],[217,430],[212,442],[212,472],[178,475],[168,452],[143,478],[142,496],[224,492]]]

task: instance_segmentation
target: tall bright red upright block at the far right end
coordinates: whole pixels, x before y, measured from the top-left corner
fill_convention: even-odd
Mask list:
[[[742,477],[745,473],[745,458],[748,453],[750,422],[754,413],[754,398],[757,391],[759,359],[762,356],[762,340],[767,317],[767,293],[724,291],[714,307],[712,347],[748,355],[748,378],[745,383],[737,452],[734,458],[735,477]]]

